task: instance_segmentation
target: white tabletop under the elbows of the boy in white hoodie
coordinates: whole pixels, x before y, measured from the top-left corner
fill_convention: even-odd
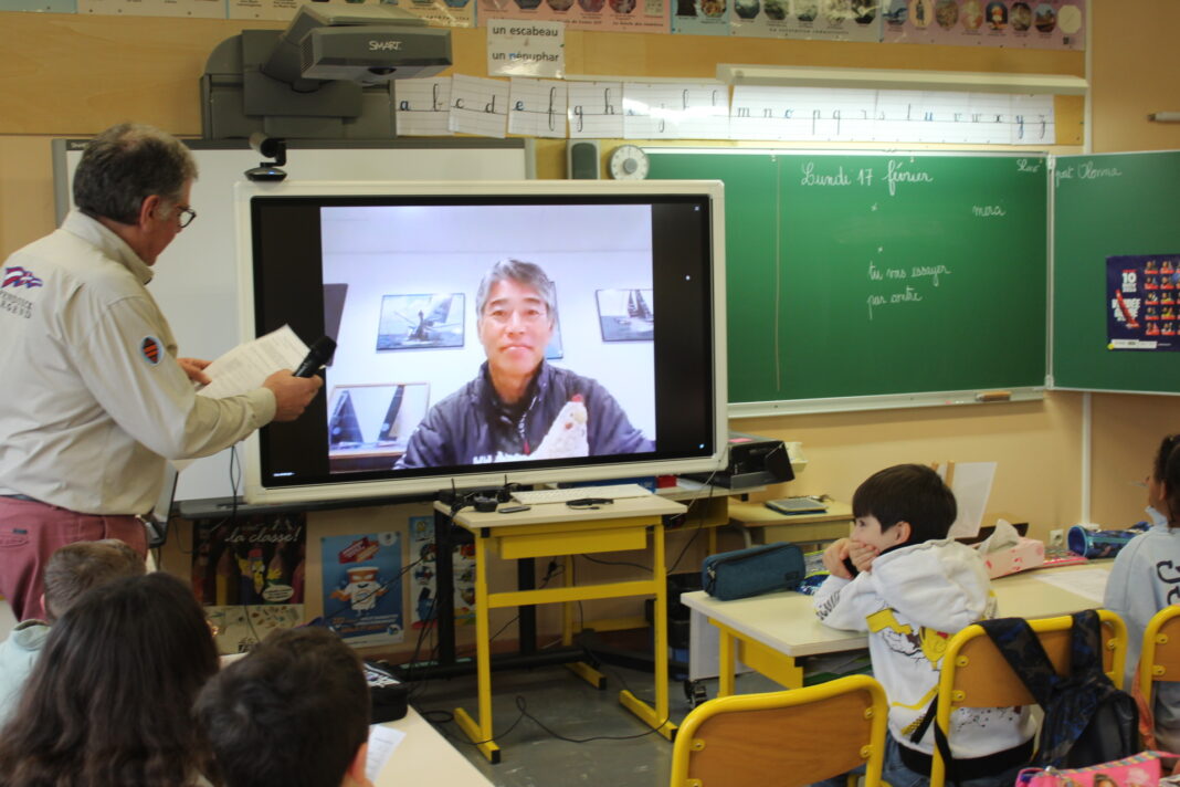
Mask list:
[[[991,586],[999,603],[999,616],[1050,617],[1096,609],[1102,605],[1101,599],[1050,584],[1044,577],[1062,577],[1077,571],[1093,579],[1096,571],[1109,572],[1112,563],[1095,560],[1022,571],[994,579]],[[868,647],[868,640],[861,632],[832,629],[820,623],[815,618],[813,598],[793,591],[722,602],[697,590],[682,593],[680,601],[689,609],[788,656],[814,656]]]

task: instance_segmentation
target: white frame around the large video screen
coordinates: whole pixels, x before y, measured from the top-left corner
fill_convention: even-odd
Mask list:
[[[641,459],[568,467],[513,467],[446,476],[422,476],[376,480],[347,480],[308,485],[267,486],[262,479],[261,441],[257,432],[244,442],[244,497],[250,504],[313,503],[340,499],[422,498],[441,490],[494,488],[509,483],[546,484],[562,481],[609,481],[661,474],[712,472],[723,466],[728,435],[727,348],[726,348],[726,260],[725,199],[720,181],[447,181],[447,182],[282,182],[238,183],[235,189],[235,216],[238,261],[238,309],[242,341],[257,337],[255,314],[254,238],[251,201],[255,197],[472,197],[472,196],[563,196],[634,198],[643,195],[703,196],[710,204],[709,234],[713,264],[709,289],[713,313],[713,451],[709,455],[677,459]],[[658,319],[658,317],[657,317]],[[307,340],[307,337],[304,337]],[[323,394],[327,395],[327,394]],[[313,405],[315,406],[315,405]]]

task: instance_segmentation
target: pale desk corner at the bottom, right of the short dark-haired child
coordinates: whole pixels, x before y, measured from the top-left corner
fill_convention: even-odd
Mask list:
[[[492,782],[451,746],[434,727],[409,708],[392,727],[406,734],[389,760],[373,780],[373,787],[447,785],[447,787],[492,787]]]

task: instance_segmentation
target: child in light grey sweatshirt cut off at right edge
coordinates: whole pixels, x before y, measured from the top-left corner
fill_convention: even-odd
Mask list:
[[[1127,543],[1114,559],[1104,606],[1127,623],[1125,688],[1133,686],[1143,630],[1158,611],[1180,603],[1180,434],[1160,442],[1147,476],[1147,516],[1152,529]],[[1155,737],[1159,748],[1180,746],[1180,682],[1155,688]]]

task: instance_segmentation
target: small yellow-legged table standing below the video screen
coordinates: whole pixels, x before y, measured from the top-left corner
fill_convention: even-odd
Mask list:
[[[435,510],[448,513],[446,506]],[[572,604],[594,598],[625,596],[655,597],[655,708],[641,702],[628,690],[620,691],[618,701],[660,734],[671,740],[676,724],[668,720],[668,582],[664,569],[663,518],[683,513],[686,506],[657,496],[621,498],[595,509],[571,509],[564,503],[535,505],[517,513],[480,513],[463,511],[454,514],[455,525],[474,536],[476,553],[476,676],[479,696],[479,721],[463,708],[454,711],[463,732],[478,746],[491,762],[499,762],[499,747],[492,740],[492,674],[489,611],[505,606],[560,603],[565,605],[563,638],[572,638]],[[651,536],[650,544],[648,536]],[[487,586],[487,560],[497,556],[505,560],[614,552],[620,550],[651,550],[651,576],[630,582],[595,585],[526,589],[491,592]],[[565,572],[569,583],[571,572]],[[582,677],[596,682],[598,676],[589,665],[572,665]],[[591,676],[594,680],[591,680]]]

